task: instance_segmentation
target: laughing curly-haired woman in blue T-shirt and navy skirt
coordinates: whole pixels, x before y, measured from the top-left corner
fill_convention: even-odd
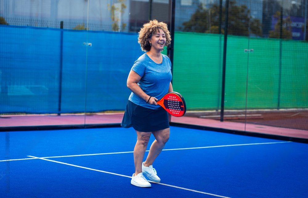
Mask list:
[[[171,62],[166,55],[161,54],[170,41],[167,24],[164,22],[152,20],[144,24],[139,32],[138,43],[145,53],[135,61],[127,79],[127,87],[132,93],[121,126],[132,126],[137,133],[134,148],[135,173],[131,184],[139,187],[151,187],[144,175],[154,182],[160,182],[152,164],[168,141],[170,129],[168,113],[156,101],[173,91]],[[155,140],[143,162],[151,134]]]

